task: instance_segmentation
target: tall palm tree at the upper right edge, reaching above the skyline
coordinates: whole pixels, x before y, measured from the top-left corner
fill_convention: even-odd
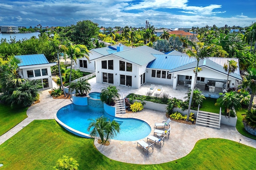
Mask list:
[[[244,39],[248,44],[250,44],[252,51],[252,42],[255,41],[254,45],[254,52],[255,52],[255,47],[256,47],[256,22],[252,23],[249,27],[245,27],[245,34],[244,34]]]

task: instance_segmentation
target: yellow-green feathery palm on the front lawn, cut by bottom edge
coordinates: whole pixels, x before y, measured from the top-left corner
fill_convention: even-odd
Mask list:
[[[56,170],[78,170],[78,162],[72,158],[63,155],[62,158],[58,159],[58,162],[54,168]]]

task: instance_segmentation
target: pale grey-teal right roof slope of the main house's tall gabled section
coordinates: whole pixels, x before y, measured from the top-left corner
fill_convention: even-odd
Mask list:
[[[164,53],[144,45],[141,47],[120,51],[120,52],[114,53],[113,55],[116,55],[122,59],[130,61],[131,63],[135,63],[140,66],[143,66],[145,64],[150,63],[154,59],[156,59],[156,57],[154,57],[153,54],[164,54]]]

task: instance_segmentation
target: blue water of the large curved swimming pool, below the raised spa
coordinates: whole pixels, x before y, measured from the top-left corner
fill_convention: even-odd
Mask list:
[[[136,141],[147,137],[151,132],[148,123],[139,119],[113,117],[108,115],[103,108],[70,104],[62,107],[57,112],[57,117],[60,121],[86,134],[90,134],[87,128],[91,121],[88,119],[95,119],[102,115],[110,119],[110,121],[115,120],[120,124],[120,133],[117,133],[117,136],[113,139],[120,141]]]

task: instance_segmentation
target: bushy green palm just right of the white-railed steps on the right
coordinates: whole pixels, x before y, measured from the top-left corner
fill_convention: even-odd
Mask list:
[[[228,109],[240,109],[241,103],[240,103],[240,96],[235,91],[226,92],[225,94],[220,93],[222,95],[219,97],[216,101],[215,105],[220,105],[220,107],[224,108],[225,113],[228,113]]]

